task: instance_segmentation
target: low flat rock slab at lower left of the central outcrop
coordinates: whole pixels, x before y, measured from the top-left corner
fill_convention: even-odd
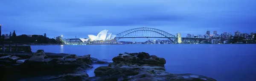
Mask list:
[[[124,74],[127,76],[137,75],[139,72],[137,70],[133,70],[132,68],[112,68],[112,67],[98,67],[94,70],[96,76],[101,75],[118,75]]]

